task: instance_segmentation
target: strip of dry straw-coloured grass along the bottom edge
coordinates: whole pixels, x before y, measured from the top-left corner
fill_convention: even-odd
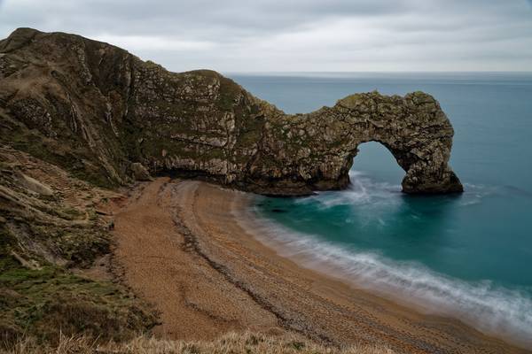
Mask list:
[[[146,336],[123,342],[98,344],[87,337],[60,336],[53,347],[43,347],[31,340],[18,342],[2,354],[393,354],[376,346],[326,348],[300,337],[267,336],[253,333],[228,334],[213,342],[165,341]]]

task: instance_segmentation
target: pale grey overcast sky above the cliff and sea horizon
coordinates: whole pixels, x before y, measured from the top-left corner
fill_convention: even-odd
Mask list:
[[[172,71],[532,71],[531,0],[0,0]]]

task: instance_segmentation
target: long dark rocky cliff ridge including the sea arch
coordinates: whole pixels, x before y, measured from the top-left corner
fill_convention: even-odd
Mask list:
[[[432,96],[377,92],[287,115],[219,73],[170,73],[77,35],[0,42],[1,142],[103,185],[132,163],[270,195],[342,189],[362,142],[382,143],[407,193],[462,191],[453,129]]]

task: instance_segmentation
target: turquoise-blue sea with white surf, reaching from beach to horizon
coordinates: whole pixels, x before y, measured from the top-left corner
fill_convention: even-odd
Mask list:
[[[262,197],[254,212],[287,256],[532,345],[532,74],[230,76],[290,113],[374,89],[436,97],[455,128],[463,195],[403,195],[403,170],[368,142],[349,189]]]

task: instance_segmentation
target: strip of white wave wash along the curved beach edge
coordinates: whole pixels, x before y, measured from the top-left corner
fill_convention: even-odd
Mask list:
[[[495,289],[492,293],[482,294],[483,287],[475,288],[480,284],[471,285],[419,265],[390,262],[371,252],[353,253],[341,249],[260,215],[254,206],[257,196],[238,196],[237,199],[239,197],[245,198],[248,205],[236,208],[235,218],[249,235],[275,250],[279,257],[289,258],[298,266],[340,281],[351,289],[368,292],[422,314],[458,319],[484,335],[525,349],[532,348],[528,326],[521,323],[510,327],[505,323],[506,318],[497,318],[504,313],[495,312],[497,304],[507,308],[516,301],[510,298],[506,303],[500,303],[499,298],[512,296],[511,290],[504,293]],[[499,302],[493,304],[490,301]],[[508,311],[520,313],[518,306]]]

